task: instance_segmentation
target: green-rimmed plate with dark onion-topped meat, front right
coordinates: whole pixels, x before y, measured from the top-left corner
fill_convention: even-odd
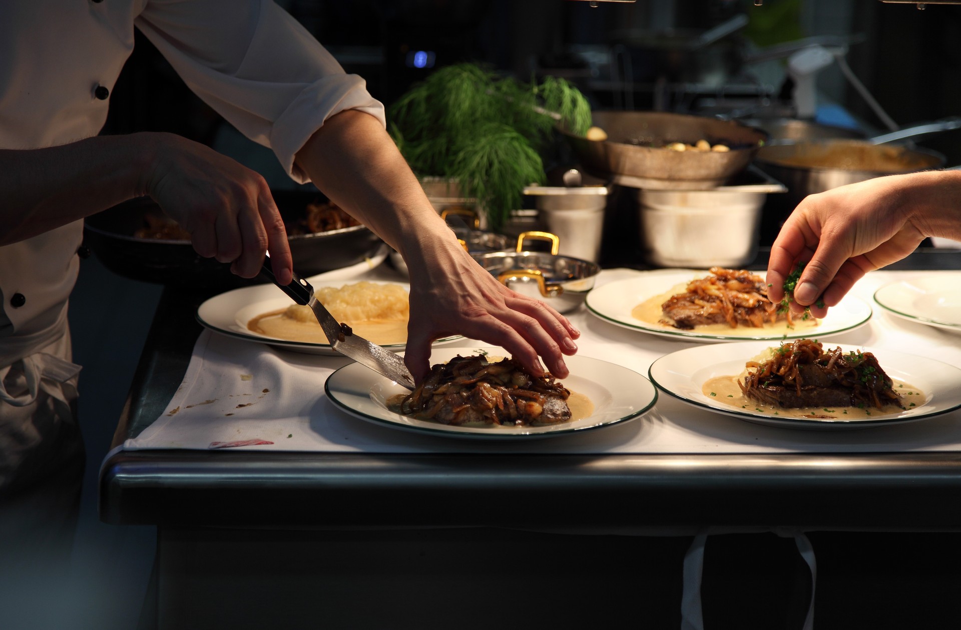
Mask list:
[[[654,361],[649,376],[694,406],[792,428],[905,424],[961,408],[952,365],[812,339],[688,348]]]

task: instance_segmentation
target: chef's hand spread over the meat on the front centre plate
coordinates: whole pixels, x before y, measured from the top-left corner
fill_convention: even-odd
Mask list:
[[[443,226],[443,224],[440,224]],[[511,291],[464,252],[451,230],[407,248],[410,324],[407,369],[417,382],[430,370],[431,342],[453,334],[502,346],[531,375],[543,376],[543,357],[558,378],[568,376],[564,354],[580,336],[566,317],[539,300]]]

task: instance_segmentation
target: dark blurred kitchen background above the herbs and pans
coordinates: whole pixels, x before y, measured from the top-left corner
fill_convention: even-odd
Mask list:
[[[385,105],[434,68],[480,61],[527,80],[561,76],[597,109],[790,115],[784,63],[761,53],[804,38],[847,45],[853,73],[900,125],[961,111],[961,7],[878,0],[279,0],[366,79]],[[748,24],[696,53],[680,52],[739,14]],[[819,119],[883,131],[881,120],[835,65],[817,75]],[[249,148],[184,85],[143,36],[111,95],[104,133],[167,131],[237,153]],[[919,144],[961,163],[955,133]],[[256,151],[256,150],[250,150]],[[271,167],[273,165],[270,165]],[[276,175],[275,173],[269,173]],[[279,185],[290,185],[278,182]]]

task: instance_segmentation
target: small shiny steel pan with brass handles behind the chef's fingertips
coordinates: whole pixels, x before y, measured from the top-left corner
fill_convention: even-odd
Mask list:
[[[551,243],[551,253],[524,250],[527,240]],[[522,232],[514,252],[471,254],[507,288],[550,304],[560,313],[577,308],[594,287],[601,267],[594,262],[558,255],[559,239],[542,231]]]

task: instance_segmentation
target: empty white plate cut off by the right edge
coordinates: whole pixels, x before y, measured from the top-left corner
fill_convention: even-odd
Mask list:
[[[961,273],[932,274],[901,280],[875,291],[875,302],[902,319],[927,326],[961,330]]]

